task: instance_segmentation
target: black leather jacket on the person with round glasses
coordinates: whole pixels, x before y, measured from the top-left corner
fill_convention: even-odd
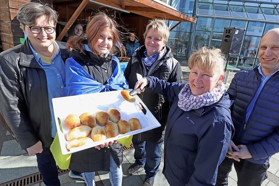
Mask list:
[[[0,111],[22,149],[39,140],[43,147],[52,143],[46,73],[29,43],[26,39],[0,54]],[[66,43],[56,43],[65,61],[69,56]]]

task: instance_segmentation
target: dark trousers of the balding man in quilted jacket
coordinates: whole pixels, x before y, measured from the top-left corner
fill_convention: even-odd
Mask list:
[[[237,174],[238,186],[260,186],[267,178],[267,169],[269,162],[265,164],[255,164],[245,159],[240,159],[240,162],[234,159],[225,157],[223,162],[218,167],[218,175],[215,186],[227,186],[228,174],[234,165]]]

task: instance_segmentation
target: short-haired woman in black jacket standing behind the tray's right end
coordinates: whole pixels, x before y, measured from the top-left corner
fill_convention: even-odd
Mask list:
[[[137,73],[142,77],[155,76],[168,82],[182,83],[183,75],[180,63],[174,59],[169,46],[166,45],[169,29],[164,20],[150,20],[143,36],[145,45],[135,51],[124,72],[129,87],[134,88]],[[146,175],[143,186],[150,186],[154,183],[161,161],[161,146],[170,102],[165,100],[161,94],[151,90],[146,90],[140,98],[161,126],[133,136],[135,163],[128,168],[127,172],[134,174],[144,166]]]

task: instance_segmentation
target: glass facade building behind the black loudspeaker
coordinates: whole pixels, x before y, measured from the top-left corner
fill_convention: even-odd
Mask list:
[[[279,0],[170,0],[169,5],[197,18],[197,23],[182,22],[169,36],[168,44],[179,61],[201,46],[221,47],[224,27],[245,30],[240,55],[229,56],[229,64],[239,69],[259,64],[257,52],[261,36],[279,27]],[[168,21],[169,28],[178,22]]]

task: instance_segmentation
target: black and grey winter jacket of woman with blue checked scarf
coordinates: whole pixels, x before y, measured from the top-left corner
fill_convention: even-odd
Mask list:
[[[153,63],[148,71],[142,61],[145,46],[141,46],[136,50],[131,57],[124,75],[128,81],[129,87],[134,89],[137,82],[137,73],[142,77],[154,76],[159,79],[164,79],[168,82],[183,82],[183,75],[180,63],[174,59],[170,48],[165,45],[164,49],[160,51],[157,61]],[[152,90],[146,89],[140,94],[140,98],[155,118],[160,122],[161,126],[146,132],[142,132],[133,136],[139,141],[148,141],[157,143],[163,141],[163,131],[167,123],[167,115],[169,113],[170,102],[165,100],[161,94],[154,93]]]

